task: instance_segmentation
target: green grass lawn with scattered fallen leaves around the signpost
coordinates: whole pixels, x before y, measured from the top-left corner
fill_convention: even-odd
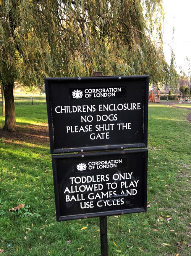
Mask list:
[[[149,105],[147,212],[107,217],[108,255],[190,255],[189,112]],[[16,122],[0,138],[0,252],[100,255],[99,218],[56,221],[46,106],[16,106]]]

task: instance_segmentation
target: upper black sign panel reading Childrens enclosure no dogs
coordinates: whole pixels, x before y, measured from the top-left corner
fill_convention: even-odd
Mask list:
[[[147,147],[149,76],[45,78],[51,154]]]

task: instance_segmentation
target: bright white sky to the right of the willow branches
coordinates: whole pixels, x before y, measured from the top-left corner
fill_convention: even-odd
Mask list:
[[[163,0],[163,9],[165,12],[163,33],[165,58],[170,64],[170,46],[172,46],[176,57],[176,71],[180,74],[179,66],[181,66],[188,73],[185,58],[188,56],[191,66],[191,0]]]

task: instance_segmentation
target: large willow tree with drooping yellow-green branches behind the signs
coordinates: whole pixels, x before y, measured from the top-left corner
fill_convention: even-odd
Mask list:
[[[149,74],[155,84],[168,81],[162,18],[162,0],[0,0],[3,129],[16,128],[15,80],[31,86],[42,84],[44,76],[91,76],[102,70]]]

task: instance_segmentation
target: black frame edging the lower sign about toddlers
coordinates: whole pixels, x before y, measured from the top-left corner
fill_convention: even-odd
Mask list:
[[[93,213],[79,213],[74,215],[61,215],[60,212],[60,206],[63,206],[64,209],[66,205],[63,204],[63,199],[60,199],[61,192],[59,192],[58,188],[58,182],[59,184],[65,183],[60,180],[58,177],[58,170],[57,163],[59,160],[65,160],[66,162],[70,161],[85,161],[87,159],[95,159],[99,157],[129,157],[132,158],[132,154],[134,157],[137,157],[139,154],[139,157],[143,157],[142,159],[142,165],[139,175],[142,175],[143,178],[141,182],[141,191],[139,192],[141,194],[142,198],[136,198],[136,200],[141,201],[141,207],[138,208],[128,208],[127,206],[121,210],[109,210],[109,211],[100,211],[100,212],[93,212]],[[80,218],[93,218],[93,217],[100,217],[100,216],[109,216],[109,215],[123,215],[125,213],[138,213],[138,212],[145,212],[147,210],[147,154],[148,149],[134,149],[134,150],[123,150],[123,151],[111,151],[111,152],[100,152],[100,153],[85,153],[85,154],[67,154],[67,155],[52,155],[52,167],[53,167],[53,180],[54,180],[54,190],[55,190],[55,205],[56,205],[56,215],[57,215],[57,221],[64,221],[64,220],[73,220],[73,219],[80,219]],[[135,161],[134,161],[135,162]],[[134,163],[133,162],[133,163]],[[135,163],[137,166],[139,166],[138,161]],[[60,167],[59,167],[60,168]],[[73,168],[73,167],[72,167]],[[117,169],[116,169],[117,170]],[[108,169],[108,173],[111,170]],[[66,170],[65,166],[62,167],[62,172],[66,175],[67,172],[71,174],[70,170]],[[118,170],[117,170],[118,172]],[[136,170],[136,172],[139,172],[139,170]],[[92,171],[92,173],[95,175],[95,171]],[[69,175],[70,176],[70,175]],[[117,196],[119,197],[119,196]],[[121,196],[122,197],[122,196]],[[133,198],[133,197],[132,197]],[[132,199],[132,200],[135,200]],[[135,203],[136,205],[136,203]],[[76,207],[76,206],[75,206]],[[112,208],[116,208],[117,206],[112,206]],[[63,211],[63,210],[62,210]],[[65,211],[65,210],[64,210]]]

